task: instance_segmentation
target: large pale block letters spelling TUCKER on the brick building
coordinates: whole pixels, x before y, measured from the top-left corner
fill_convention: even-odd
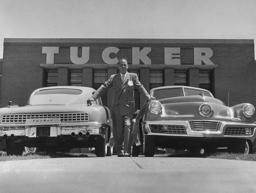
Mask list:
[[[151,65],[151,59],[148,54],[151,52],[151,47],[132,47],[132,64],[139,65],[140,60],[145,65]],[[108,65],[116,65],[118,59],[111,58],[110,54],[117,54],[120,51],[118,47],[106,47],[99,57]],[[42,53],[46,54],[46,63],[54,63],[54,54],[59,53],[59,47],[43,47]],[[214,65],[210,60],[213,55],[210,47],[194,47],[194,65]],[[84,65],[90,59],[90,47],[82,47],[82,55],[78,57],[78,47],[70,47],[70,60],[76,65]],[[180,47],[164,47],[164,64],[165,65],[181,65],[180,62]]]

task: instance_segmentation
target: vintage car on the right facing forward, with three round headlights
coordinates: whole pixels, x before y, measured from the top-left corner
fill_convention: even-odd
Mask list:
[[[133,123],[133,156],[139,155],[140,145],[148,157],[154,156],[156,148],[253,152],[252,104],[227,107],[211,92],[189,86],[156,87],[150,96],[156,100],[147,102]]]

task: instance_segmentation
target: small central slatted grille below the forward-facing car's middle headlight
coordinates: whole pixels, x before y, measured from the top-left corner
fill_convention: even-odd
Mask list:
[[[217,131],[220,125],[218,121],[214,120],[191,120],[190,124],[194,131]]]

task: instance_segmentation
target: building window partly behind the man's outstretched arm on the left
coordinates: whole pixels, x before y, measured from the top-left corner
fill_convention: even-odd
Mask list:
[[[99,87],[108,80],[108,71],[107,70],[94,70],[94,89],[99,89]],[[104,93],[101,96],[101,101],[104,106],[108,104],[108,93]]]

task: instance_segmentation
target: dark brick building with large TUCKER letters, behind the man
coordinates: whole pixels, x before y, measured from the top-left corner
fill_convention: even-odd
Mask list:
[[[43,86],[81,85],[97,89],[127,58],[149,91],[188,85],[210,90],[229,106],[256,106],[253,39],[28,39],[5,38],[1,107],[23,106]],[[1,83],[1,82],[0,82]],[[144,102],[135,93],[137,108]],[[109,106],[111,91],[103,97]]]

